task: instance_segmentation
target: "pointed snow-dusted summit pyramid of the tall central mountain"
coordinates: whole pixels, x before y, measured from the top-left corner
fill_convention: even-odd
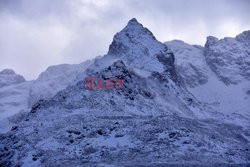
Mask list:
[[[155,71],[161,73],[174,66],[172,52],[136,19],[130,20],[114,36],[107,55],[121,59],[143,76],[150,76]]]

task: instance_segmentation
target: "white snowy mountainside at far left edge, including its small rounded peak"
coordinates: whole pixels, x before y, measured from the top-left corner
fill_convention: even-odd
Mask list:
[[[8,118],[20,112],[27,112],[30,82],[11,69],[0,72],[0,133],[11,129]]]

